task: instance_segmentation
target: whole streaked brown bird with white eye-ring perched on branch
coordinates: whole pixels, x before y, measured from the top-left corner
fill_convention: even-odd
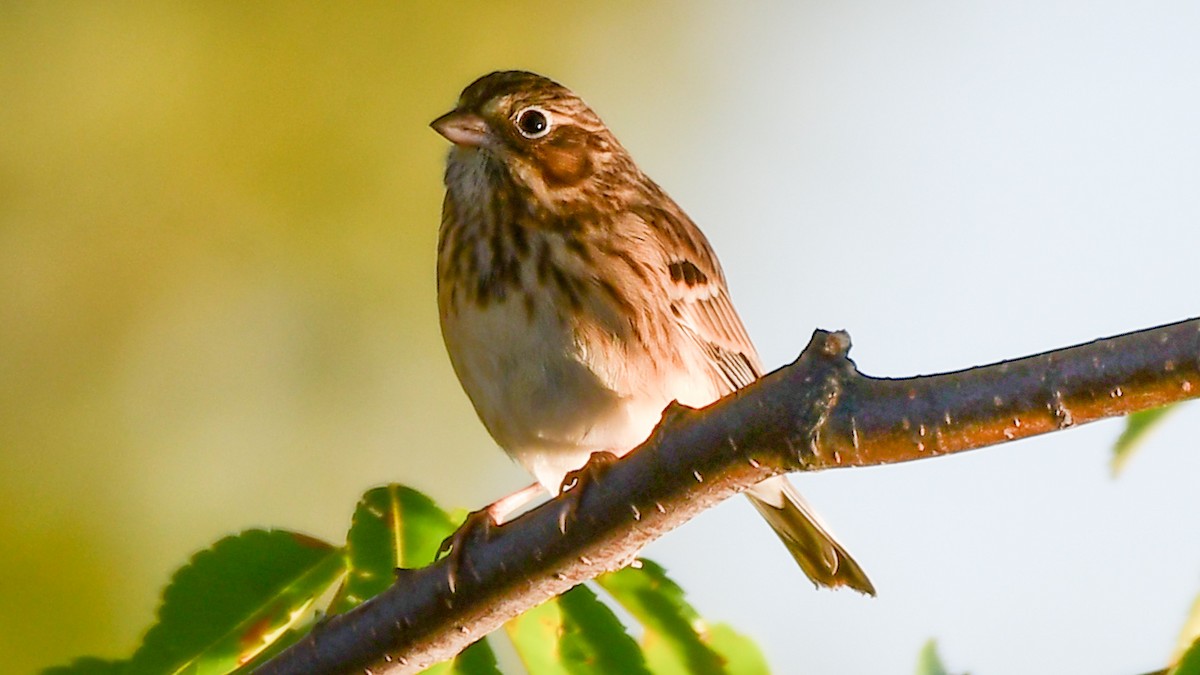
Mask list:
[[[433,129],[454,143],[438,309],[455,372],[497,443],[557,494],[623,455],[673,400],[703,407],[762,374],[713,249],[566,88],[518,71],[472,83]],[[821,586],[875,589],[785,477],[748,492]]]

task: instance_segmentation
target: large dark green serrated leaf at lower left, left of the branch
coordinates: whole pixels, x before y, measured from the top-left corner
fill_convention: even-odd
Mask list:
[[[230,673],[302,621],[342,572],[338,549],[302,534],[221,539],[172,578],[128,673]]]

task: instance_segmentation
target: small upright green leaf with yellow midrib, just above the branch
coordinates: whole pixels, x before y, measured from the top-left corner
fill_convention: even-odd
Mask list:
[[[362,495],[346,536],[346,583],[330,604],[341,614],[382,593],[397,567],[433,562],[455,521],[432,500],[403,485],[384,485]]]

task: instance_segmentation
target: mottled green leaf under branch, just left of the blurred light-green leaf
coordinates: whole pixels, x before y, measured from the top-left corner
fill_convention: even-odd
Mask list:
[[[709,646],[708,626],[684,599],[683,589],[655,562],[596,578],[596,584],[646,628],[642,650],[658,674],[724,674],[725,659]]]

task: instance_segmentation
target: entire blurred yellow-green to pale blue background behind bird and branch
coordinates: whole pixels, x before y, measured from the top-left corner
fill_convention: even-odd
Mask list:
[[[445,358],[434,246],[475,77],[571,86],[706,229],[770,368],[868,374],[1200,313],[1194,2],[6,2],[0,653],[126,656],[194,550],[340,542],[384,482],[527,484]],[[652,545],[781,673],[1162,667],[1200,591],[1200,407],[799,477],[880,597],[733,500]],[[740,574],[730,574],[730,571]]]

